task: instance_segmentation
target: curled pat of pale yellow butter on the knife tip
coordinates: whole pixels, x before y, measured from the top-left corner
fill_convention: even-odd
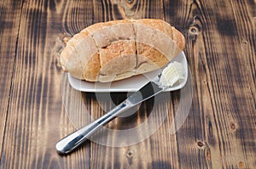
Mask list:
[[[183,65],[178,62],[173,62],[162,71],[160,76],[160,84],[163,87],[172,87],[176,82],[184,79],[185,70]]]

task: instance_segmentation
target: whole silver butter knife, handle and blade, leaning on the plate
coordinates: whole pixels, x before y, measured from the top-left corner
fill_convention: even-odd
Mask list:
[[[156,81],[158,80],[159,78],[156,76]],[[153,97],[162,90],[163,88],[159,87],[157,82],[148,82],[136,93],[131,94],[131,96],[125,99],[124,102],[117,105],[113,110],[110,110],[106,115],[102,115],[102,117],[98,118],[96,121],[93,121],[78,131],[69,134],[66,138],[61,139],[55,147],[57,152],[61,155],[67,155],[72,152],[73,149],[79,147],[80,144],[84,143],[85,140],[90,138],[90,136],[98,131],[103,125],[112,121],[116,116],[121,115],[125,110],[130,109],[132,106]]]

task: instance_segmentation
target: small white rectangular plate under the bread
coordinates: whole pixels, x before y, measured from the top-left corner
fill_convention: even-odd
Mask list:
[[[182,52],[177,55],[171,62],[177,61],[181,63],[185,70],[185,78],[176,86],[168,88],[166,91],[177,90],[185,85],[188,79],[188,63],[185,54]],[[130,78],[117,82],[86,82],[81,81],[68,73],[68,82],[70,85],[81,92],[104,93],[104,92],[136,92],[143,87],[148,81],[157,76],[162,69],[154,70],[143,75],[131,76]]]

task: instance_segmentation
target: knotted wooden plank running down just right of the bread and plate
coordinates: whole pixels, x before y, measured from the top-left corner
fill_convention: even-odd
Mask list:
[[[172,25],[175,25],[178,30],[182,31],[186,38],[187,42],[184,52],[189,61],[189,68],[192,71],[194,86],[194,98],[189,116],[176,133],[177,163],[179,168],[211,168],[207,166],[208,161],[206,160],[204,151],[197,146],[197,143],[203,143],[203,138],[205,137],[203,132],[204,121],[201,119],[203,112],[203,110],[201,110],[202,103],[198,102],[197,99],[204,97],[203,101],[207,104],[207,108],[211,109],[211,102],[209,102],[209,98],[205,97],[207,96],[206,94],[208,94],[207,83],[201,82],[205,80],[206,75],[201,65],[201,60],[198,58],[199,54],[195,54],[199,51],[201,52],[201,48],[203,48],[204,44],[202,38],[198,35],[198,31],[201,29],[201,22],[194,20],[195,25],[190,25],[195,16],[193,14],[198,14],[199,12],[197,12],[197,10],[199,9],[195,4],[189,1],[164,1],[164,7],[166,20]],[[191,28],[195,29],[194,35],[189,34],[189,29]],[[199,85],[199,87],[197,87],[197,85]],[[177,101],[174,100],[174,103]],[[175,109],[177,109],[177,105]]]

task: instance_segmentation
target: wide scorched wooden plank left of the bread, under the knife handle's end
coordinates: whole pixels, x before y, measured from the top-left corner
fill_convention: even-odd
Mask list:
[[[62,31],[72,34],[91,22],[84,20],[91,16],[90,5],[91,1],[23,3],[2,168],[90,167],[90,147],[66,157],[55,152],[56,142],[74,130],[62,105],[62,71],[55,57],[61,45],[55,40]]]

